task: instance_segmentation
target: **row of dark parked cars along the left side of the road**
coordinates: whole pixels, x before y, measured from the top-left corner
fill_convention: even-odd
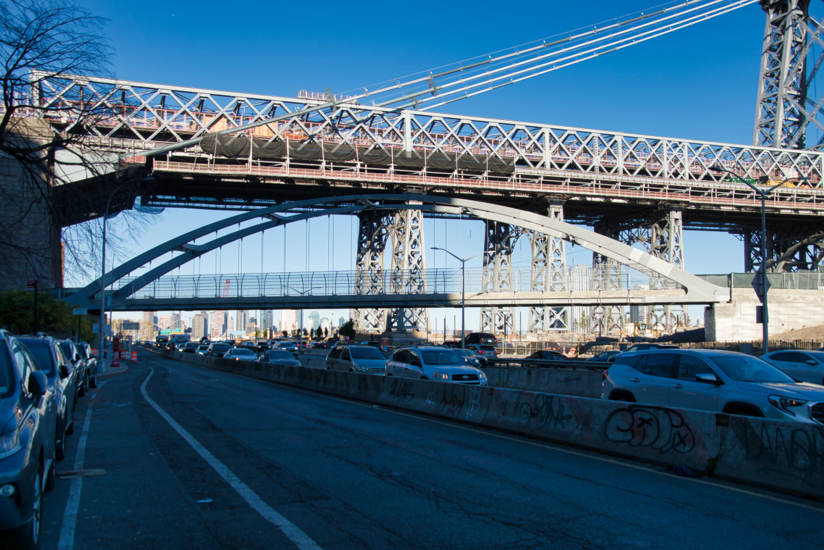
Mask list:
[[[38,548],[44,491],[74,431],[78,397],[97,385],[86,343],[0,330],[0,548]]]

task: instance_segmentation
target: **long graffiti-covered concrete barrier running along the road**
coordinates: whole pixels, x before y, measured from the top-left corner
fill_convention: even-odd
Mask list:
[[[221,371],[652,464],[685,464],[714,478],[824,501],[824,426],[147,349]],[[529,385],[529,380],[532,375],[521,381]]]

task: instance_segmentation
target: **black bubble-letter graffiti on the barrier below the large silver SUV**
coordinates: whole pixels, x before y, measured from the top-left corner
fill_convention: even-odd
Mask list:
[[[607,439],[662,453],[686,454],[695,448],[695,436],[681,413],[665,407],[630,405],[612,411],[606,419]]]

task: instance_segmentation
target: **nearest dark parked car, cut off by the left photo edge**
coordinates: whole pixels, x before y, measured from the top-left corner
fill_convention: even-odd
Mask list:
[[[59,394],[17,338],[0,333],[0,539],[39,548],[42,493],[54,488]]]

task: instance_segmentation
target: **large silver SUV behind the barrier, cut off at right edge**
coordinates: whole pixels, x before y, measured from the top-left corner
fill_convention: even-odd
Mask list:
[[[604,371],[601,398],[824,424],[824,388],[737,352],[621,353]]]

